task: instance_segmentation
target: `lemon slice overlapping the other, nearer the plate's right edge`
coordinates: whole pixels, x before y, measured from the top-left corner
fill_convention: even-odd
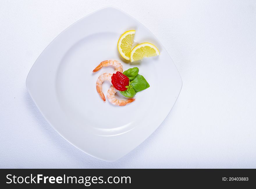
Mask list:
[[[157,56],[160,55],[159,50],[157,47],[151,43],[141,43],[135,46],[131,50],[131,62],[141,60],[144,57],[151,57],[151,56]]]

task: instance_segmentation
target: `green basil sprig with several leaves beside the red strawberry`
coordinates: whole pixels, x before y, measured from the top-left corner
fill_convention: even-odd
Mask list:
[[[125,97],[134,97],[137,92],[143,91],[150,87],[147,80],[139,73],[139,69],[137,67],[127,69],[123,72],[129,78],[129,86],[126,86],[127,90],[120,91],[120,93]]]

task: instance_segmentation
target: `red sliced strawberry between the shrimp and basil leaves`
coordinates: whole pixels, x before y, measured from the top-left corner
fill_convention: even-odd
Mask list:
[[[118,91],[125,91],[127,89],[125,86],[129,85],[129,78],[117,71],[116,74],[112,75],[111,83]]]

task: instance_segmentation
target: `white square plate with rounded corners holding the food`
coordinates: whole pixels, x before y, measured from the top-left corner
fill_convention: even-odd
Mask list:
[[[150,42],[160,56],[138,65],[124,62],[117,50],[120,35],[136,30],[135,41]],[[97,77],[113,72],[92,70],[114,59],[124,70],[138,67],[150,87],[124,106],[103,102],[96,91]],[[182,88],[179,73],[157,38],[128,14],[113,7],[100,9],[59,34],[31,68],[27,89],[51,126],[71,144],[104,161],[115,161],[149,137],[163,122]],[[111,86],[103,84],[103,92]],[[122,98],[118,95],[118,98]]]

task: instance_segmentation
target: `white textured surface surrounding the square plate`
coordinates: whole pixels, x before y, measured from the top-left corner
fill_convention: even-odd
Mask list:
[[[60,32],[109,5],[161,41],[183,80],[159,129],[113,163],[65,141],[25,86]],[[256,168],[256,1],[0,0],[0,168]]]

